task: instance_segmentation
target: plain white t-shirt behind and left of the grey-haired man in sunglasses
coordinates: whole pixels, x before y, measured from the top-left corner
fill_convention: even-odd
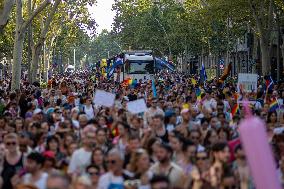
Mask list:
[[[86,151],[84,148],[76,150],[70,160],[68,173],[85,173],[85,169],[91,163],[92,152]]]

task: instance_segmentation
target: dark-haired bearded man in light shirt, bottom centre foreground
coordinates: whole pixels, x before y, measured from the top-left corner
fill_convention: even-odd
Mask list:
[[[156,162],[150,170],[154,175],[167,176],[172,187],[182,188],[185,176],[182,169],[171,161],[172,154],[172,148],[166,143],[161,143],[157,149],[158,162]]]

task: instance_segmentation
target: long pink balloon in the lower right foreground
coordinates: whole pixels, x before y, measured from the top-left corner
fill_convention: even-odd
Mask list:
[[[281,189],[265,124],[257,117],[240,124],[240,136],[257,189]]]

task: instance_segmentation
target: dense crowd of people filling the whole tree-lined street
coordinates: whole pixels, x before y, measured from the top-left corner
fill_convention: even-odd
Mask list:
[[[238,100],[248,94],[234,79],[161,72],[127,85],[95,75],[58,74],[44,87],[23,80],[17,91],[1,82],[0,188],[255,188],[239,133]],[[96,104],[96,89],[115,94],[114,105]],[[260,77],[255,92],[250,109],[265,122],[284,186],[284,84]],[[137,99],[147,110],[132,114]]]

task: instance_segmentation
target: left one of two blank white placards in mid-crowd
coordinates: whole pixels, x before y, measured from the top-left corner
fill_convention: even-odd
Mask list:
[[[115,94],[103,91],[103,90],[96,90],[94,103],[97,106],[106,106],[112,107],[115,100]]]

